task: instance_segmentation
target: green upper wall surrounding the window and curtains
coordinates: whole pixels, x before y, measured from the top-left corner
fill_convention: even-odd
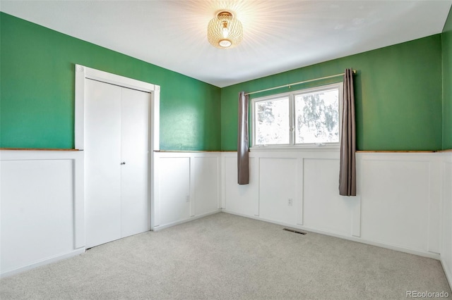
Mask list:
[[[237,150],[240,91],[254,92],[340,74],[345,68],[357,70],[354,84],[358,150],[441,149],[439,34],[222,88],[222,150]],[[342,77],[338,77],[316,82],[316,85],[341,80]],[[308,85],[292,89],[303,87]],[[272,93],[286,91],[280,89]]]

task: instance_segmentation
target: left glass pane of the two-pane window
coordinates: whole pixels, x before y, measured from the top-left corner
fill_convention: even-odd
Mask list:
[[[256,102],[254,106],[256,145],[289,144],[289,98]]]

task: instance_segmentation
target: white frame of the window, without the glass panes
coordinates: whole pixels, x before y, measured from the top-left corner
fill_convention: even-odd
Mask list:
[[[339,137],[338,142],[334,143],[304,143],[295,144],[295,96],[301,94],[312,94],[315,92],[322,92],[328,89],[338,89],[338,102],[339,102]],[[289,98],[289,115],[290,115],[290,143],[289,144],[256,144],[256,123],[255,123],[255,110],[256,103],[262,101],[269,101],[272,99],[280,99],[288,97]],[[251,99],[251,150],[261,150],[261,149],[339,149],[340,146],[340,131],[342,127],[342,98],[343,98],[343,82],[336,82],[329,85],[321,85],[317,87],[310,87],[307,89],[297,89],[292,92],[285,92],[281,94],[274,94],[270,96],[262,96],[258,98]]]

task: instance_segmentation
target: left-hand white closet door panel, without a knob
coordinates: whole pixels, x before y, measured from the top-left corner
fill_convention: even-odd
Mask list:
[[[121,87],[87,80],[86,247],[121,238]]]

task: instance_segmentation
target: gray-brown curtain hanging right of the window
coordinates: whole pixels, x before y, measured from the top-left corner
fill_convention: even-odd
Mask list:
[[[340,134],[339,194],[356,196],[356,129],[355,95],[353,94],[353,70],[346,69],[342,100],[342,131]]]

